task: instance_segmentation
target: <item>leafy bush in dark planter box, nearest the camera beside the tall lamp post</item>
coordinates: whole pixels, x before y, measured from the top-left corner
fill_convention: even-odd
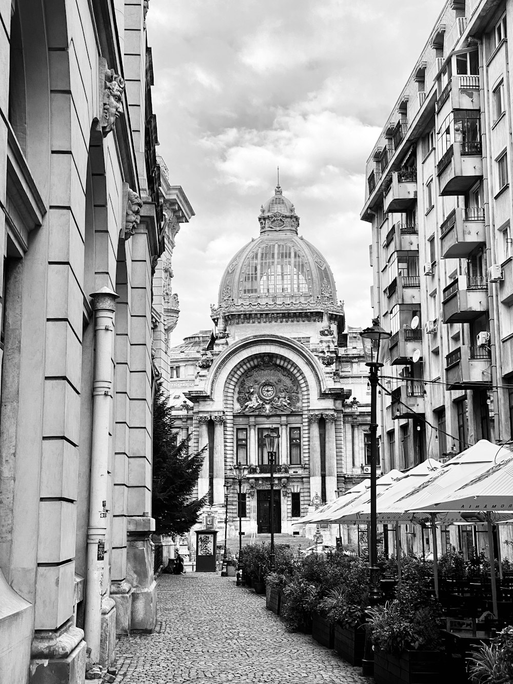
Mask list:
[[[419,684],[441,674],[441,609],[415,561],[405,563],[396,598],[367,611],[376,684]]]

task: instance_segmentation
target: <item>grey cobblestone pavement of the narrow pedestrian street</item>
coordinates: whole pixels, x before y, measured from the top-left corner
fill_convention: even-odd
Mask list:
[[[157,629],[122,637],[116,684],[369,684],[311,636],[290,633],[265,596],[215,573],[163,575]]]

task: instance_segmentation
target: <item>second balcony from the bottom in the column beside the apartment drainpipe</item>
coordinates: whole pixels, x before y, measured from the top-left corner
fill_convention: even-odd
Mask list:
[[[488,311],[488,282],[484,276],[458,276],[443,290],[443,322],[468,323]]]

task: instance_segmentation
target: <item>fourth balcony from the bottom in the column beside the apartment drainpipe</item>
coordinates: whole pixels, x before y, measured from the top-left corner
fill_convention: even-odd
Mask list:
[[[455,142],[436,166],[440,195],[464,195],[483,177],[480,142]]]

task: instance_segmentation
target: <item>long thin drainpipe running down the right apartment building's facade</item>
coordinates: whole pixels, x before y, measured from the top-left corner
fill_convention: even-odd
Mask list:
[[[479,41],[479,98],[481,102],[481,144],[482,155],[486,163],[483,164],[483,199],[484,199],[484,229],[486,232],[486,267],[497,263],[495,252],[495,236],[492,236],[491,226],[495,225],[493,202],[488,194],[488,178],[492,175],[490,155],[488,155],[489,118],[486,116],[488,101],[488,74],[484,68],[484,48]],[[486,81],[486,83],[485,83]],[[499,301],[497,287],[488,280],[488,319],[490,321],[490,352],[492,354],[492,395],[493,395],[493,436],[495,441],[501,439],[501,421],[499,413],[499,390],[497,388],[497,365],[502,368],[502,350],[499,330]]]

